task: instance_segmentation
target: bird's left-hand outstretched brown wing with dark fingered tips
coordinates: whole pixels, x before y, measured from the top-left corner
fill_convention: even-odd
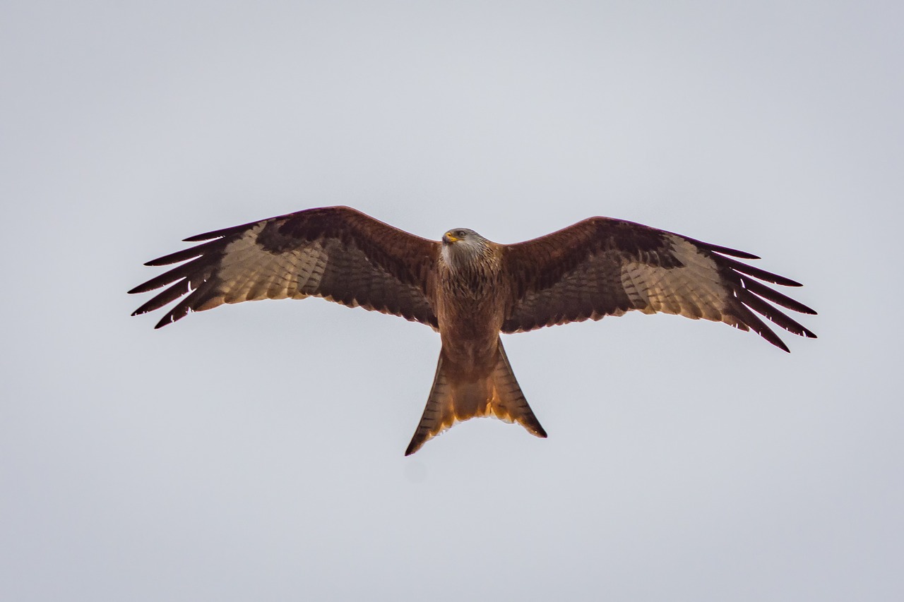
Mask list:
[[[323,207],[215,230],[147,266],[185,261],[129,293],[165,287],[133,315],[180,299],[160,328],[223,303],[321,296],[437,327],[427,281],[439,243],[349,207]]]

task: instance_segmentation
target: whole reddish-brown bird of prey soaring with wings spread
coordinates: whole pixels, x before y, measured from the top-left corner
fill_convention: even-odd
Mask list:
[[[185,241],[201,244],[148,261],[181,265],[129,291],[168,286],[133,315],[178,299],[157,328],[223,303],[319,296],[438,331],[442,347],[433,388],[406,456],[475,417],[517,422],[546,437],[500,333],[636,310],[724,322],[785,351],[754,312],[815,338],[767,302],[815,311],[760,281],[800,284],[732,259],[757,256],[632,221],[592,217],[504,245],[466,228],[448,230],[441,241],[422,239],[349,207],[322,207]]]

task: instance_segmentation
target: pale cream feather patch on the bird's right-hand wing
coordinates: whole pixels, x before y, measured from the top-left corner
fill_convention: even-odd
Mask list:
[[[645,314],[662,312],[697,319],[724,319],[725,287],[719,268],[687,240],[669,236],[681,268],[627,262],[621,271],[628,298]]]

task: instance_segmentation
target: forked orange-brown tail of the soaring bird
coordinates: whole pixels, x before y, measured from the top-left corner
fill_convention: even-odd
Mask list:
[[[521,387],[514,378],[512,366],[505,357],[502,341],[496,353],[493,372],[477,381],[453,381],[443,368],[440,353],[433,389],[420,418],[418,429],[411,437],[405,456],[418,451],[429,439],[436,437],[457,422],[475,417],[494,416],[506,422],[517,422],[533,435],[546,437],[546,431],[533,415],[524,399]]]

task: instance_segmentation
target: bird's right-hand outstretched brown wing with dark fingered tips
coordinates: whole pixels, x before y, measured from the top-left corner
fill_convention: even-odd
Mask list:
[[[515,291],[504,333],[637,310],[725,322],[788,351],[755,311],[791,333],[816,336],[767,301],[804,314],[814,310],[759,280],[800,284],[727,257],[757,256],[639,223],[590,218],[507,245],[504,253]]]

